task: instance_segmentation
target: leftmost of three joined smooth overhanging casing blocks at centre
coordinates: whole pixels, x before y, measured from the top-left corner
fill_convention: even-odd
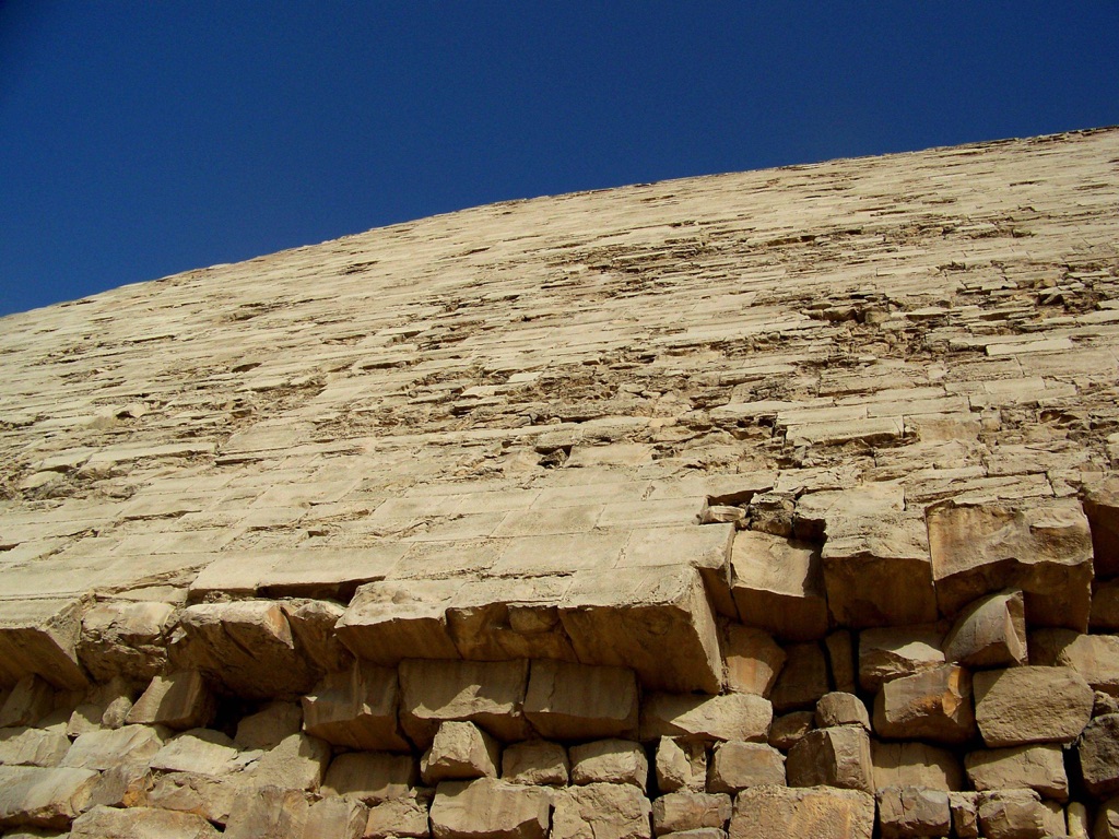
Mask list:
[[[363,585],[336,631],[360,659],[395,667],[405,658],[457,659],[446,609],[455,579],[383,581]]]

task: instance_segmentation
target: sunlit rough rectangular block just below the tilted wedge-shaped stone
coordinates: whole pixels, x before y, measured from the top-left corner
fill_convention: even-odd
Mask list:
[[[1092,714],[1092,689],[1063,667],[1015,667],[975,675],[976,722],[990,748],[1071,743]]]

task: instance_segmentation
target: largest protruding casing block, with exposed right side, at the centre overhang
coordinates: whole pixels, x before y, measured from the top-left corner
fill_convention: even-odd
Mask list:
[[[579,572],[560,618],[584,664],[632,668],[655,690],[722,688],[718,631],[694,568]]]

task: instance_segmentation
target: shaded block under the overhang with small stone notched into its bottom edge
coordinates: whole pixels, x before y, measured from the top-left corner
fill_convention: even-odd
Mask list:
[[[406,659],[398,668],[401,724],[421,748],[445,720],[476,723],[502,742],[529,734],[524,715],[527,661]]]

